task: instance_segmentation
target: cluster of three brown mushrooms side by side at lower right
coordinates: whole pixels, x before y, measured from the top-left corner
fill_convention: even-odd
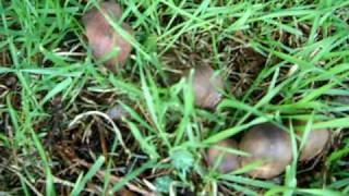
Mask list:
[[[300,138],[303,137],[302,128],[296,130],[296,133]],[[329,143],[330,131],[327,128],[311,130],[305,138],[304,146],[300,150],[299,161],[309,161],[320,155]],[[250,156],[239,157],[219,150],[217,146],[240,149]],[[291,138],[285,130],[272,123],[260,124],[246,131],[239,144],[229,138],[208,149],[208,163],[215,166],[217,160],[220,160],[217,170],[221,173],[231,172],[260,161],[261,164],[248,174],[257,179],[273,179],[281,174],[292,161]]]

